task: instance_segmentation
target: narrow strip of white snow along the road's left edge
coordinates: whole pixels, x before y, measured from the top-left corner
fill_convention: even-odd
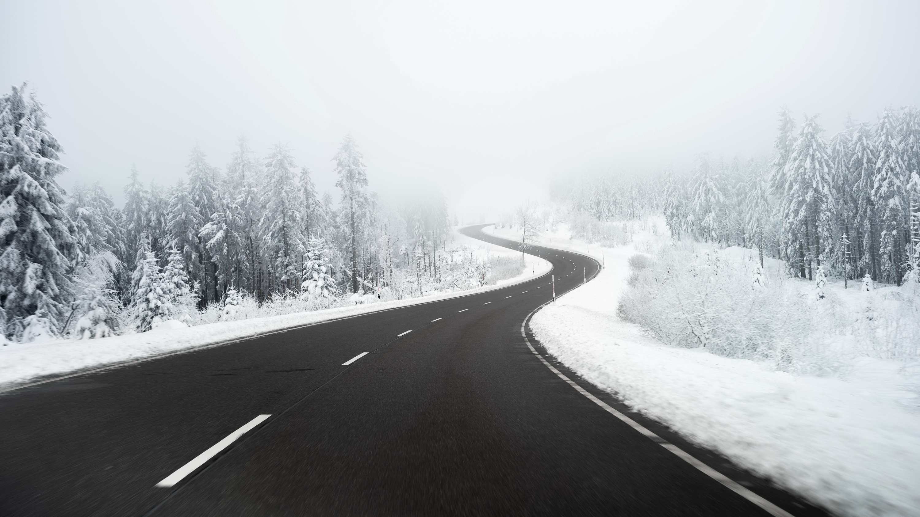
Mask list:
[[[458,239],[470,241],[470,245],[482,245],[493,253],[520,253],[507,248],[487,245],[482,241],[456,234]],[[493,249],[494,248],[494,249]],[[197,327],[156,329],[142,334],[113,336],[102,339],[65,340],[47,343],[14,343],[0,347],[0,388],[21,384],[37,377],[53,373],[67,373],[85,370],[94,366],[131,362],[181,350],[249,339],[262,334],[286,328],[301,327],[348,316],[358,316],[376,311],[425,304],[474,293],[485,293],[528,281],[546,273],[551,268],[546,261],[527,255],[523,272],[494,285],[479,287],[455,293],[438,293],[407,300],[359,304],[313,312],[294,313],[211,323]]]

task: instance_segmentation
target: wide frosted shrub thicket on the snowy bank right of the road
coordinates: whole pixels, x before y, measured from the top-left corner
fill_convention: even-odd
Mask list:
[[[811,306],[791,286],[771,281],[753,289],[753,271],[726,267],[715,253],[700,258],[663,248],[653,263],[637,257],[630,263],[645,267],[633,270],[632,287],[620,297],[617,314],[651,337],[725,357],[769,361],[787,371],[833,369],[822,341],[810,338]]]

